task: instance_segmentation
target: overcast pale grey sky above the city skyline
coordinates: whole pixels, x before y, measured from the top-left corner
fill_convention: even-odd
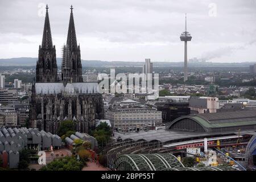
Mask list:
[[[187,13],[189,59],[256,61],[256,0],[0,0],[0,58],[38,56],[46,4],[60,57],[71,3],[84,60],[182,61]]]

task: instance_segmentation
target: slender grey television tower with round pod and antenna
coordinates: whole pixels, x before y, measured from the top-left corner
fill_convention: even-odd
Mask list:
[[[184,41],[184,82],[188,80],[188,53],[187,42],[191,41],[192,36],[187,31],[187,13],[185,14],[185,31],[180,35],[180,40]]]

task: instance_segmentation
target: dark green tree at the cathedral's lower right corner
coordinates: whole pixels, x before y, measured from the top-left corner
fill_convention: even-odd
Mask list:
[[[95,137],[98,141],[98,146],[103,147],[109,141],[110,137],[112,136],[112,130],[110,126],[102,122],[100,125],[96,127],[93,131],[93,137]]]

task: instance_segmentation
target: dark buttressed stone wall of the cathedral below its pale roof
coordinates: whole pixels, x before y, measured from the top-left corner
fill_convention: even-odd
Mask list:
[[[36,94],[33,100],[32,127],[53,134],[65,120],[73,121],[76,131],[88,133],[94,127],[95,119],[104,117],[102,96],[97,93]]]

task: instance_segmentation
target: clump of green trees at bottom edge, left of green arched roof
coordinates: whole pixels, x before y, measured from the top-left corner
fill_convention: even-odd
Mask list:
[[[77,161],[75,156],[65,156],[65,158],[54,159],[51,163],[40,168],[40,171],[81,171],[84,163]]]

